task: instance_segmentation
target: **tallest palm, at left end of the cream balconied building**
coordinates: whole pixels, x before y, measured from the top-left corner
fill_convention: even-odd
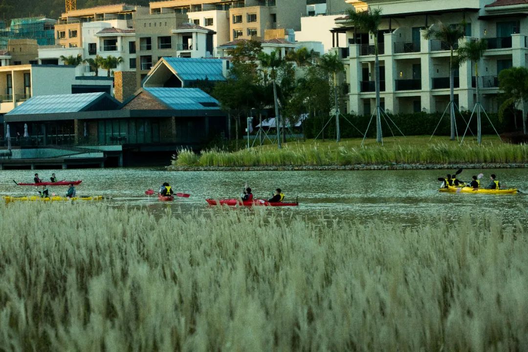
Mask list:
[[[381,23],[381,8],[367,8],[356,12],[347,9],[348,24],[374,36],[374,84],[376,90],[376,141],[381,142],[380,60],[378,58],[378,30]]]

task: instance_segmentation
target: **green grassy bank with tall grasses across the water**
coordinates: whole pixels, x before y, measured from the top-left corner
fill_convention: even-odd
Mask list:
[[[336,142],[290,142],[284,148],[266,145],[229,153],[205,150],[195,154],[182,150],[172,166],[321,166],[321,165],[386,165],[451,164],[451,163],[527,163],[528,145],[505,144],[495,136],[486,136],[482,145],[464,141],[459,145],[446,137],[428,136],[385,138],[384,146],[372,139],[361,147],[361,139]]]

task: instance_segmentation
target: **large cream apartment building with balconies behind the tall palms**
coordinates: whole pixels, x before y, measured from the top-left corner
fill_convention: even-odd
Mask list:
[[[378,35],[381,102],[390,112],[443,112],[449,102],[449,47],[434,38],[425,39],[426,28],[438,22],[466,23],[459,43],[485,39],[488,49],[479,62],[481,101],[487,111],[500,102],[497,76],[512,66],[526,66],[528,54],[528,4],[520,0],[457,0],[441,2],[402,0],[348,0],[354,6],[381,7]],[[348,112],[370,114],[375,108],[374,39],[354,28],[346,17],[333,29],[335,50],[345,63]],[[336,34],[344,33],[346,42]],[[474,65],[462,64],[455,74],[455,102],[460,110],[473,109],[476,99]]]

